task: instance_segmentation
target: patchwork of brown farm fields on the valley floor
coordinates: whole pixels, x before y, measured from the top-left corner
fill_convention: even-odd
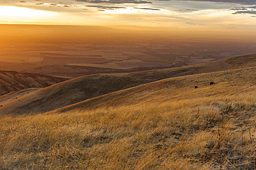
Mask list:
[[[51,48],[54,47],[52,46]],[[142,52],[121,51],[122,50],[85,50],[75,45],[64,46],[60,51],[51,50],[49,47],[46,49],[40,48],[38,51],[33,49],[29,52],[24,52],[24,50],[19,51],[18,49],[16,49],[16,52],[6,52],[2,50],[0,62],[8,62],[9,64],[30,63],[34,65],[80,65],[117,69],[172,66],[172,62],[165,64],[157,63],[158,58]],[[147,59],[154,59],[155,63],[145,62]]]

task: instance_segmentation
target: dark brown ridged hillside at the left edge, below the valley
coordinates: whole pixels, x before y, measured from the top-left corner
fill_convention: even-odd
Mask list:
[[[29,74],[19,72],[0,71],[0,95],[26,88],[43,88],[54,85],[67,78]]]

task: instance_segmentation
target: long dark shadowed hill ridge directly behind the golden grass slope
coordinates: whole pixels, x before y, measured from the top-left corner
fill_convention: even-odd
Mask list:
[[[128,74],[95,74],[74,78],[22,96],[0,108],[1,114],[46,112],[83,100],[165,78],[256,66],[256,54],[235,56],[210,63]],[[209,74],[210,75],[210,74]],[[1,103],[0,103],[1,105]]]

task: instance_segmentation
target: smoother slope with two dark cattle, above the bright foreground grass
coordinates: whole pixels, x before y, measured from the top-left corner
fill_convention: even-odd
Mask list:
[[[79,110],[81,108],[90,110],[125,105],[154,105],[166,101],[194,100],[195,98],[210,96],[239,96],[244,92],[254,92],[256,89],[255,73],[256,67],[247,67],[236,70],[166,78],[161,81],[91,98],[81,103],[56,109],[53,113]],[[215,84],[210,85],[210,82],[214,82]],[[195,88],[195,86],[198,88]]]

